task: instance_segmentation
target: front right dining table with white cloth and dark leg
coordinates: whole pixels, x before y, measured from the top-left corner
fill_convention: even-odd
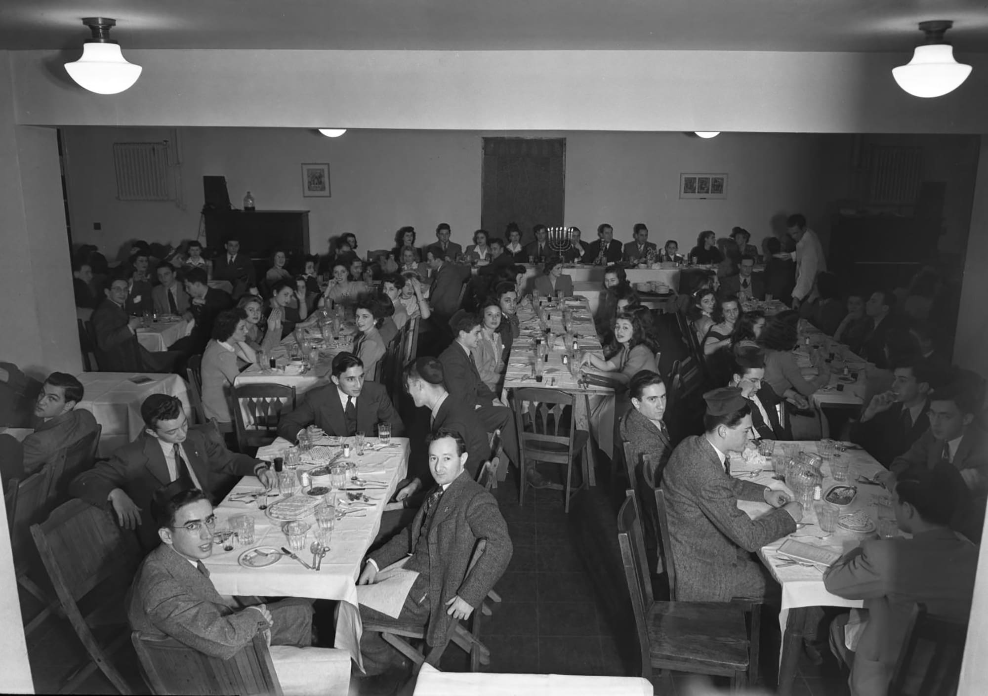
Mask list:
[[[780,447],[788,448],[791,452],[818,452],[816,442],[777,442],[777,452]],[[858,476],[873,477],[879,472],[885,471],[873,457],[867,454],[857,445],[848,445],[841,457],[850,461],[851,470],[848,480],[841,484],[854,485],[858,488],[858,494],[847,507],[841,508],[841,514],[863,510],[875,524],[879,518],[879,505],[890,499],[889,492],[880,485],[857,482]],[[773,479],[772,463],[764,464],[760,461],[754,463],[744,462],[740,457],[731,455],[730,459],[731,476],[752,480],[756,483],[768,485],[775,489],[785,489],[782,481]],[[838,483],[831,475],[830,463],[823,466],[824,481],[823,492],[826,493],[832,485]],[[876,504],[877,503],[877,504]],[[757,518],[765,514],[771,508],[767,503],[739,501],[738,507],[744,510],[751,518]],[[882,513],[891,515],[891,512]],[[782,629],[782,652],[780,655],[779,667],[779,692],[789,693],[792,681],[795,677],[796,662],[799,656],[799,649],[802,642],[802,628],[805,623],[805,612],[807,607],[830,606],[830,607],[860,607],[862,601],[857,599],[845,599],[831,594],[823,585],[823,571],[817,567],[786,565],[785,560],[777,555],[779,547],[786,539],[797,539],[802,543],[816,547],[822,547],[840,554],[856,548],[861,544],[862,539],[870,535],[855,534],[843,531],[840,528],[824,539],[817,537],[825,536],[817,524],[816,512],[814,510],[804,510],[802,522],[806,526],[801,527],[788,537],[768,544],[758,552],[759,559],[769,569],[772,576],[782,585],[782,611],[779,615],[780,628]]]

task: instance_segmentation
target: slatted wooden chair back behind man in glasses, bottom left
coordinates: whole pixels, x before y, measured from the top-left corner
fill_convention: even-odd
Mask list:
[[[262,633],[229,659],[210,657],[178,641],[141,636],[130,641],[153,694],[282,696]]]

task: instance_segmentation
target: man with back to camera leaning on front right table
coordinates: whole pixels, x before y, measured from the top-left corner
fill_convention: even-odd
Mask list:
[[[978,547],[949,528],[954,502],[944,472],[900,479],[892,508],[899,529],[910,537],[865,539],[824,573],[827,591],[864,599],[864,610],[852,610],[864,624],[857,636],[846,632],[847,614],[834,620],[830,632],[831,649],[851,667],[852,694],[888,692],[917,604],[932,616],[967,623]]]

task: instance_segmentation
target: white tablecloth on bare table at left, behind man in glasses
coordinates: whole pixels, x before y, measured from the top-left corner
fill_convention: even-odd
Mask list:
[[[87,408],[103,426],[100,436],[101,457],[109,457],[118,447],[133,440],[144,429],[140,404],[152,393],[167,393],[182,400],[187,416],[192,411],[185,380],[178,375],[134,374],[122,372],[84,372],[76,375],[85,394],[79,406]],[[150,382],[135,384],[133,379]]]

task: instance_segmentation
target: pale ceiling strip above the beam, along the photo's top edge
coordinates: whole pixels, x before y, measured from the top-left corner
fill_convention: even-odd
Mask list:
[[[902,51],[948,19],[988,52],[986,0],[0,0],[0,49],[78,48],[83,17],[124,48]]]

